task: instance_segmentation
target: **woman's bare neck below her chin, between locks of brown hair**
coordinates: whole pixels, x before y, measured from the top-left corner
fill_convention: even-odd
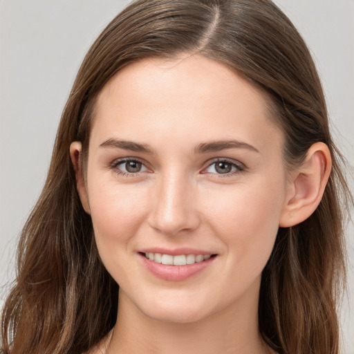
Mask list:
[[[258,296],[189,323],[147,317],[122,291],[118,304],[109,354],[269,353],[258,330]]]

